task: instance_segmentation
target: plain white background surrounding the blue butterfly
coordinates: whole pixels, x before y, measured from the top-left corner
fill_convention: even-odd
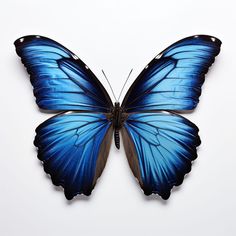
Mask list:
[[[235,1],[48,1],[0,3],[0,235],[236,235]],[[112,145],[91,197],[68,202],[36,157],[41,113],[13,41],[55,39],[76,53],[118,95],[160,51],[183,37],[219,37],[222,51],[207,74],[198,108],[185,117],[200,128],[199,158],[168,201],[145,197],[124,149]],[[111,93],[110,93],[111,94]]]

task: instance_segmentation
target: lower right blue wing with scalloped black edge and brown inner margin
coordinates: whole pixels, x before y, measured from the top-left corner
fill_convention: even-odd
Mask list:
[[[122,137],[130,167],[146,195],[168,199],[191,170],[200,145],[198,128],[186,118],[170,113],[129,114]]]

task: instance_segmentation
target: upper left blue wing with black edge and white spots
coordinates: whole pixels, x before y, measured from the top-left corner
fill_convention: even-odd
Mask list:
[[[22,37],[15,47],[30,74],[40,108],[110,111],[112,101],[102,84],[68,49],[42,36]]]

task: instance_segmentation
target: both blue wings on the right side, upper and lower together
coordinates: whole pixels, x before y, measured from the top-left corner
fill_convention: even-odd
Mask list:
[[[197,106],[205,74],[220,45],[219,39],[206,35],[174,43],[146,66],[124,98],[125,151],[147,195],[157,193],[167,199],[191,170],[200,145],[198,128],[167,111]]]

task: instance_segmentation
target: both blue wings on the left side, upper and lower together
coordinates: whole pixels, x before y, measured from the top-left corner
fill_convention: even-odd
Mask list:
[[[38,158],[53,183],[64,187],[67,199],[89,195],[109,153],[112,101],[92,71],[59,43],[25,36],[15,46],[30,74],[38,106],[74,111],[57,115],[36,129]]]

